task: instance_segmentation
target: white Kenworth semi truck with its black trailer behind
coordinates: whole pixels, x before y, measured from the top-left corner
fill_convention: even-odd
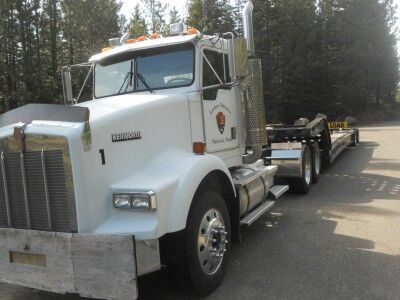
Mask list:
[[[358,140],[324,118],[265,122],[253,4],[246,39],[182,25],[170,37],[111,39],[93,56],[93,99],[0,116],[0,281],[135,299],[166,266],[200,295],[222,282],[240,228]]]

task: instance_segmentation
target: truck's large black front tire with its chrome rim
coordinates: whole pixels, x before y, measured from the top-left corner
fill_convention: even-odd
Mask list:
[[[229,211],[219,193],[205,190],[194,199],[185,234],[175,244],[180,250],[168,255],[177,259],[167,268],[178,288],[200,296],[215,291],[225,276],[231,245]]]

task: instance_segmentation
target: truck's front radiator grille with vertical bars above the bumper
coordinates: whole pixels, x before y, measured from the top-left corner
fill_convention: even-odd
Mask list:
[[[2,152],[1,162],[1,227],[72,231],[63,150]]]

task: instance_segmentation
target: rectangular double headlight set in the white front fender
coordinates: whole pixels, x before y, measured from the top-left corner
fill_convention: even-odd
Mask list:
[[[153,191],[113,194],[113,205],[126,210],[154,210],[156,194]]]

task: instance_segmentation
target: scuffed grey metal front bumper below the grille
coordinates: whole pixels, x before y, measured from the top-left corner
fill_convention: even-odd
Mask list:
[[[137,276],[160,267],[158,240],[0,229],[0,281],[89,298],[136,299]]]

